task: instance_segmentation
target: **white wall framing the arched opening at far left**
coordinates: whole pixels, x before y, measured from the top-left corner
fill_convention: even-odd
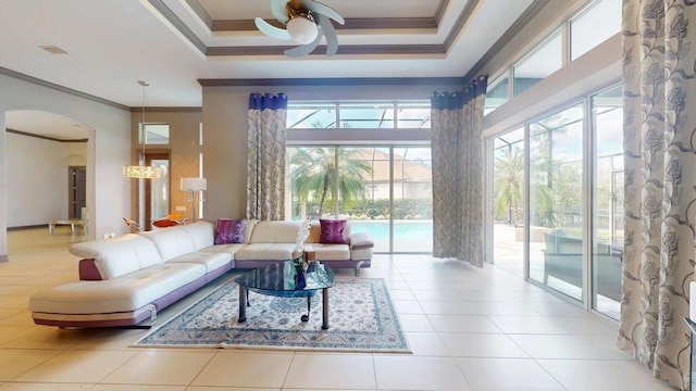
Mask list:
[[[123,216],[130,210],[130,179],[122,167],[130,162],[130,113],[114,105],[67,93],[44,85],[0,74],[0,129],[5,127],[5,112],[39,110],[55,113],[89,127],[87,152],[87,207],[90,211],[90,236],[105,232],[125,234]],[[7,260],[5,174],[7,137],[0,133],[0,261]]]

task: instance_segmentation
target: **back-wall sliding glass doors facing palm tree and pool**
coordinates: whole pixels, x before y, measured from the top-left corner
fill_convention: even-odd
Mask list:
[[[433,248],[428,147],[288,148],[293,219],[348,218],[375,252]]]

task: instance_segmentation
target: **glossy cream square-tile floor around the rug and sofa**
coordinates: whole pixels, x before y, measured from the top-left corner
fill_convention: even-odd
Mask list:
[[[3,390],[673,390],[620,352],[618,326],[501,267],[376,255],[412,355],[129,348],[144,330],[35,326],[32,292],[77,277],[70,228],[11,231],[0,263]],[[344,273],[344,272],[341,272]],[[350,275],[348,272],[346,274]],[[202,292],[160,314],[165,320]]]

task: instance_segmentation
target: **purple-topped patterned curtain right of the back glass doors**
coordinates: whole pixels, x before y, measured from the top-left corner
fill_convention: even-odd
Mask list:
[[[433,256],[483,266],[482,122],[488,76],[431,97]]]

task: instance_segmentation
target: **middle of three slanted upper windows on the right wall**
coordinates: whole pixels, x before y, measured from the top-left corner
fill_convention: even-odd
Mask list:
[[[542,81],[548,75],[560,70],[561,66],[563,66],[563,46],[561,31],[558,30],[514,65],[514,96],[519,96]]]

